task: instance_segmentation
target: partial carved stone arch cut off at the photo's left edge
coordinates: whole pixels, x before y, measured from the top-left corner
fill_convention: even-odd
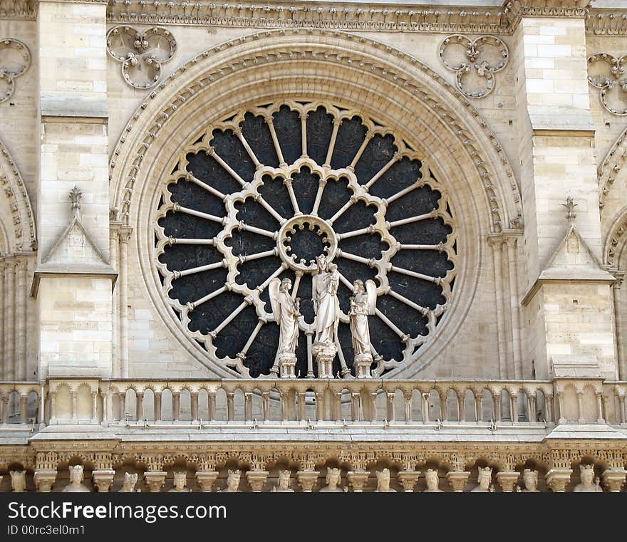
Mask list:
[[[0,253],[36,249],[35,219],[26,185],[9,150],[0,140]]]

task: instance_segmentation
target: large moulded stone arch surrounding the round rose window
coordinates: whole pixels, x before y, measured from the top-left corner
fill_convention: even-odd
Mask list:
[[[148,224],[159,199],[156,186],[184,149],[182,133],[187,140],[207,125],[222,125],[229,113],[299,98],[365,110],[398,133],[415,135],[412,148],[429,157],[450,194],[461,232],[457,246],[464,256],[455,278],[455,316],[452,311],[442,318],[439,332],[421,348],[419,364],[403,363],[388,372],[390,377],[412,377],[442,352],[470,310],[477,288],[473,271],[489,265],[479,240],[517,226],[522,216],[519,189],[497,137],[468,100],[429,66],[343,32],[264,32],[216,46],[170,75],[130,119],[110,163],[112,205],[125,223],[135,226],[131,246],[167,328],[218,376],[239,376],[230,365],[213,363],[211,352],[207,355],[189,340],[190,333],[175,321],[175,309],[163,303],[148,246]],[[371,105],[377,103],[389,107]]]

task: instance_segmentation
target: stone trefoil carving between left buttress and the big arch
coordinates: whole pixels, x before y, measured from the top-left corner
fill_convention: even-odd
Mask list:
[[[115,26],[107,33],[107,51],[122,63],[122,76],[133,88],[154,87],[161,78],[162,64],[170,61],[177,43],[170,31],[153,26],[140,32],[130,26]]]

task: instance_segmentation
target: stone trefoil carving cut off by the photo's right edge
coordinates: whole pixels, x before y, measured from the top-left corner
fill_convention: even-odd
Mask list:
[[[627,55],[597,53],[588,58],[589,83],[600,90],[601,103],[614,115],[627,115]]]

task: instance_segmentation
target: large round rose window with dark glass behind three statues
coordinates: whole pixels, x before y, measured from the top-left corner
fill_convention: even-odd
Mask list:
[[[353,367],[356,279],[377,286],[375,376],[418,360],[450,306],[457,246],[445,190],[410,140],[354,110],[281,102],[224,118],[190,140],[158,205],[167,303],[208,361],[245,377],[269,375],[275,361],[276,277],[290,278],[301,299],[296,372],[311,376],[321,254],[341,280],[333,374]]]

